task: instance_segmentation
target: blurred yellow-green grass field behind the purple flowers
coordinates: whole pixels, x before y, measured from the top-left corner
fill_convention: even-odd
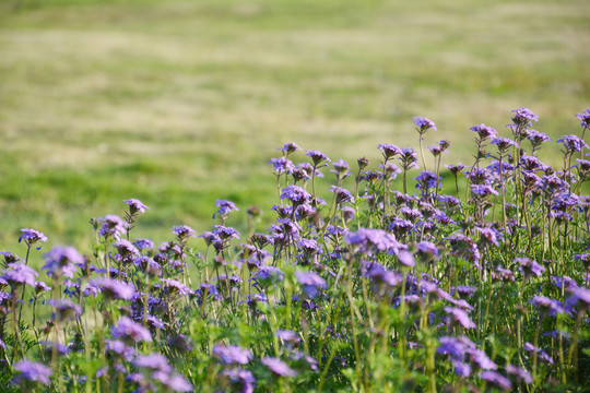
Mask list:
[[[378,143],[417,146],[413,116],[437,123],[426,145],[451,141],[444,164],[472,162],[474,124],[508,136],[522,106],[554,141],[579,134],[588,15],[587,0],[0,0],[0,250],[23,253],[32,227],[85,252],[88,219],[129,198],[151,207],[134,237],[208,230],[216,199],[244,230],[249,205],[272,217],[285,142],[375,167]]]

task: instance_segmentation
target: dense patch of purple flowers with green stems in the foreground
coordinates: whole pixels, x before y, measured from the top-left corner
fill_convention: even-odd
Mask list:
[[[2,252],[2,390],[587,391],[590,109],[577,117],[557,141],[527,108],[474,126],[470,165],[441,167],[451,142],[423,146],[423,117],[420,150],[379,144],[375,163],[287,143],[267,230],[217,200],[211,231],[137,238],[137,199],[91,219],[86,249],[23,228]],[[550,143],[558,167],[538,157]],[[227,224],[238,210],[247,233]]]

